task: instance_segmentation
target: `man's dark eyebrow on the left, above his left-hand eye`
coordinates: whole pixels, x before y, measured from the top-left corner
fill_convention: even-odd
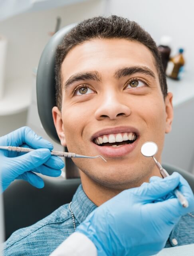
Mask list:
[[[73,83],[77,81],[83,81],[83,80],[93,80],[93,81],[101,82],[101,77],[97,71],[77,73],[69,77],[69,79],[67,79],[67,81],[64,83],[63,88],[67,90]]]

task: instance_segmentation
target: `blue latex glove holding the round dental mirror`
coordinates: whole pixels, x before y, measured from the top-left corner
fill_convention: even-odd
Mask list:
[[[188,208],[172,197],[176,187],[188,200]],[[190,186],[173,173],[121,192],[93,211],[76,232],[85,234],[100,256],[148,256],[164,248],[180,217],[193,210]]]

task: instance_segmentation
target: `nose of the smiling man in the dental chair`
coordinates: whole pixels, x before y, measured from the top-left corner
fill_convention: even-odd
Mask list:
[[[97,120],[105,118],[115,120],[119,116],[129,116],[131,114],[131,109],[122,101],[123,98],[119,97],[118,94],[115,95],[115,93],[109,93],[108,95],[105,95],[103,100],[100,102],[100,106],[95,111],[95,118]]]

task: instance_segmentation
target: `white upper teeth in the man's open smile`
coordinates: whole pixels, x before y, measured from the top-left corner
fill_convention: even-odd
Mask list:
[[[98,145],[102,143],[114,143],[114,142],[121,142],[127,140],[133,141],[136,139],[135,133],[116,133],[116,134],[108,134],[108,135],[101,135],[95,138],[95,143]]]

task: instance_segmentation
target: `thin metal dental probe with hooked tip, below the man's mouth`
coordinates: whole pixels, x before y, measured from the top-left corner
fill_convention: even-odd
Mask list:
[[[16,151],[16,152],[30,152],[30,151],[34,151],[35,149],[30,149],[28,147],[12,147],[12,146],[0,146],[0,149],[4,149],[4,150],[9,150],[9,151]],[[96,157],[101,157],[105,162],[107,160],[105,160],[101,155],[96,155],[94,157],[91,156],[87,156],[87,155],[78,155],[75,153],[70,153],[70,152],[62,152],[62,151],[51,151],[51,155],[55,155],[55,156],[60,156],[60,157],[75,157],[75,158],[96,158]]]

